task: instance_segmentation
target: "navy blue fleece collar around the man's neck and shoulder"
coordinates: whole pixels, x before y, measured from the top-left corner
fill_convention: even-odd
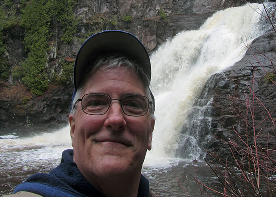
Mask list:
[[[43,197],[104,197],[80,173],[73,161],[73,150],[62,153],[61,164],[49,174],[38,173],[18,185],[14,193],[27,191]],[[138,196],[149,197],[149,182],[141,175]]]

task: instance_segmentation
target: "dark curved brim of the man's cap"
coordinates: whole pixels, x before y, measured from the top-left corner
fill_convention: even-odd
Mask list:
[[[121,53],[135,61],[151,78],[149,55],[141,41],[131,33],[107,30],[89,37],[80,47],[75,60],[74,85],[77,90],[88,66],[100,55]]]

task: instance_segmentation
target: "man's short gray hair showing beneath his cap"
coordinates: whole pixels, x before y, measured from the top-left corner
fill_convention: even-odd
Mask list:
[[[75,113],[75,102],[81,98],[83,87],[88,76],[91,76],[92,74],[94,74],[100,67],[101,69],[104,69],[104,70],[111,70],[114,68],[118,68],[120,66],[124,66],[125,68],[130,69],[131,71],[134,71],[141,78],[145,87],[145,95],[149,99],[149,101],[153,103],[149,107],[149,112],[151,117],[154,117],[155,102],[154,102],[153,95],[149,89],[149,83],[150,83],[149,77],[140,66],[138,66],[132,60],[130,60],[128,57],[121,54],[100,56],[98,59],[96,59],[94,65],[89,66],[89,69],[86,72],[88,74],[86,74],[86,76],[84,77],[84,79],[82,80],[82,82],[80,83],[76,91],[75,97],[72,102],[71,114]]]

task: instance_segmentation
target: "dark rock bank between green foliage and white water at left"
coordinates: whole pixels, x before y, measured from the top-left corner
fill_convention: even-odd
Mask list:
[[[0,131],[46,131],[68,122],[72,85],[51,85],[44,95],[35,97],[23,84],[9,86],[1,83]],[[39,101],[39,102],[38,102]],[[28,129],[27,129],[28,128]],[[24,135],[24,133],[21,133]]]

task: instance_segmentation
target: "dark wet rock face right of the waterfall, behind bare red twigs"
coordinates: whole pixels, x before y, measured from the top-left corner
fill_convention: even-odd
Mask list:
[[[229,152],[229,146],[222,140],[236,141],[235,129],[242,137],[246,136],[247,131],[251,136],[249,144],[252,144],[253,125],[255,132],[259,133],[258,143],[262,147],[276,148],[275,57],[276,33],[268,32],[252,42],[242,60],[209,79],[199,98],[203,105],[207,104],[208,100],[212,100],[207,114],[211,117],[212,137],[207,144],[203,144],[204,148],[230,161],[232,155]],[[250,110],[254,114],[253,118]],[[268,133],[271,133],[269,140]],[[201,142],[207,140],[206,136],[210,136],[209,133],[202,133]],[[207,159],[213,160],[208,154]]]

